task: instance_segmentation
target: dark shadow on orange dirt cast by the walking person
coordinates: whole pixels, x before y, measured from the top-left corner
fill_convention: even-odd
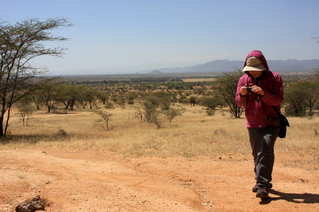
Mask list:
[[[305,203],[305,204],[312,204],[312,203],[319,203],[319,194],[291,194],[291,193],[282,193],[280,191],[276,191],[273,189],[270,189],[269,191],[272,197],[269,197],[268,199],[262,198],[259,204],[266,205],[271,203],[271,201],[277,201],[277,200],[286,200],[288,202],[294,202],[294,203]]]

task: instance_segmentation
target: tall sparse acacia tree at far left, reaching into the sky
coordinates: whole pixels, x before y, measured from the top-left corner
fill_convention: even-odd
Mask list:
[[[30,62],[40,55],[62,57],[66,48],[46,48],[43,42],[68,40],[49,31],[71,25],[66,18],[45,21],[30,18],[14,25],[0,23],[0,136],[6,135],[11,106],[15,102],[60,79],[43,76],[47,69],[32,66]]]

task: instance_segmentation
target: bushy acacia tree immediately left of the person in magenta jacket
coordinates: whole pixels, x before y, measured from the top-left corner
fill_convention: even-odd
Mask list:
[[[216,84],[213,89],[218,93],[218,97],[222,98],[230,108],[230,113],[235,118],[240,118],[244,107],[239,107],[235,102],[237,93],[237,85],[239,79],[244,75],[242,69],[234,67],[233,72],[223,72],[224,76],[216,78]]]

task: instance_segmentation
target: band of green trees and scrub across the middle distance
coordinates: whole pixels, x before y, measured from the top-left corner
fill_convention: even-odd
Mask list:
[[[177,106],[201,105],[207,109],[208,115],[214,114],[216,109],[230,112],[239,118],[242,107],[234,103],[238,79],[242,72],[237,70],[218,77],[215,82],[156,82],[156,83],[128,83],[77,85],[66,83],[46,86],[32,95],[23,98],[25,105],[33,102],[37,109],[46,106],[47,111],[55,110],[57,106],[73,110],[74,107],[92,109],[98,102],[105,108],[126,105],[138,105],[147,112],[152,110],[169,110],[172,103]],[[146,81],[146,79],[145,79]],[[92,83],[92,82],[90,82]],[[233,87],[230,89],[230,87]],[[319,83],[317,81],[297,81],[285,83],[285,97],[282,112],[287,116],[311,116],[319,110]],[[155,108],[155,109],[154,109]],[[229,109],[223,109],[229,108]],[[145,113],[145,112],[144,112]],[[149,119],[146,117],[146,119]]]

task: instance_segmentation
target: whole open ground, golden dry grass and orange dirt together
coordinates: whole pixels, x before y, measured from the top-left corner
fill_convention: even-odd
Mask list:
[[[256,184],[246,119],[217,108],[182,108],[161,128],[135,117],[137,104],[12,117],[0,145],[0,211],[39,195],[46,211],[319,211],[319,117],[288,117],[275,144],[269,199]],[[64,112],[65,113],[64,113]],[[12,112],[14,113],[14,112]]]

